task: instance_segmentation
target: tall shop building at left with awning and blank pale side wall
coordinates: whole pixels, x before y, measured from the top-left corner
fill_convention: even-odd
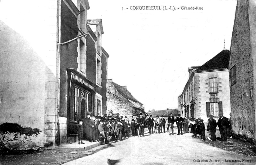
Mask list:
[[[17,18],[0,21],[1,140],[16,150],[54,147],[74,140],[86,111],[106,113],[102,21],[87,20],[88,0],[17,3],[1,1]]]

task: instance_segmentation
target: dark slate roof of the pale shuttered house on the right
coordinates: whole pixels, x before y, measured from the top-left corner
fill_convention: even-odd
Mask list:
[[[228,69],[230,51],[223,50],[194,72]]]

